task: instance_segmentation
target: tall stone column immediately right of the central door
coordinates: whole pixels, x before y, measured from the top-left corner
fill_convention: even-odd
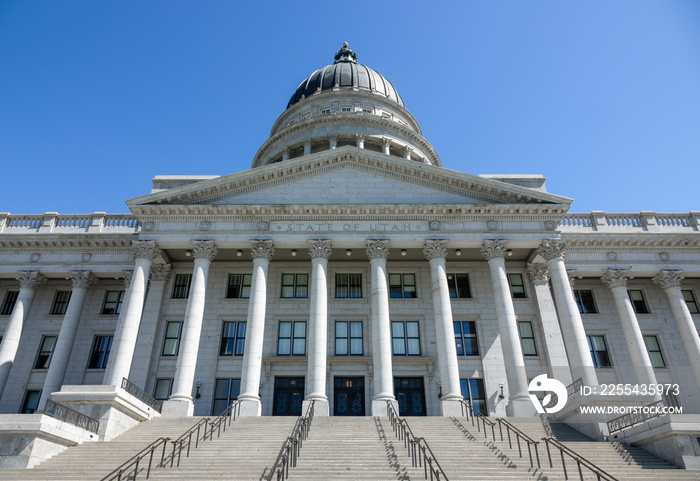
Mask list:
[[[386,401],[391,401],[398,412],[391,367],[391,321],[386,276],[389,241],[370,239],[367,241],[366,252],[372,271],[372,362],[374,363],[372,416],[386,416]]]

